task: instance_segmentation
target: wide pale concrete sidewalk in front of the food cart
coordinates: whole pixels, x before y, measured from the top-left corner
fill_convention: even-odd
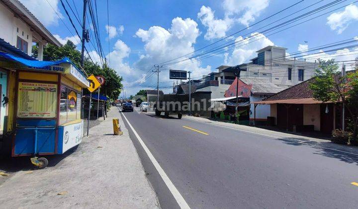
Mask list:
[[[122,136],[112,134],[112,118],[119,118]],[[45,169],[0,176],[8,178],[0,185],[1,208],[159,208],[117,108],[89,134],[68,156],[49,158]]]

